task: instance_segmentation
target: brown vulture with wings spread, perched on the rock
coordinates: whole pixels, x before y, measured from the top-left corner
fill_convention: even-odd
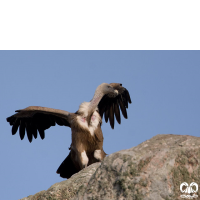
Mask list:
[[[128,103],[131,103],[129,92],[120,83],[102,83],[99,85],[90,102],[83,102],[77,112],[29,106],[16,110],[16,114],[7,118],[12,126],[12,135],[19,128],[19,136],[24,139],[25,132],[29,142],[36,139],[39,133],[45,137],[45,130],[56,124],[68,126],[72,132],[72,143],[69,155],[57,169],[62,178],[70,178],[83,168],[101,162],[107,155],[103,150],[102,117],[110,121],[114,129],[115,118],[121,123],[120,110],[127,119]]]

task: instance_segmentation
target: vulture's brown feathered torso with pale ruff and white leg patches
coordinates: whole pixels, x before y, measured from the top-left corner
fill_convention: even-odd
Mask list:
[[[106,156],[103,151],[101,116],[95,110],[88,123],[86,120],[88,107],[89,102],[84,102],[81,104],[76,114],[72,115],[72,144],[70,146],[71,151],[69,156],[78,171],[90,164],[102,161]],[[67,165],[67,163],[61,164],[57,173],[63,176],[62,173],[66,173],[66,168],[68,168]],[[69,171],[70,170],[68,169],[68,172]]]

